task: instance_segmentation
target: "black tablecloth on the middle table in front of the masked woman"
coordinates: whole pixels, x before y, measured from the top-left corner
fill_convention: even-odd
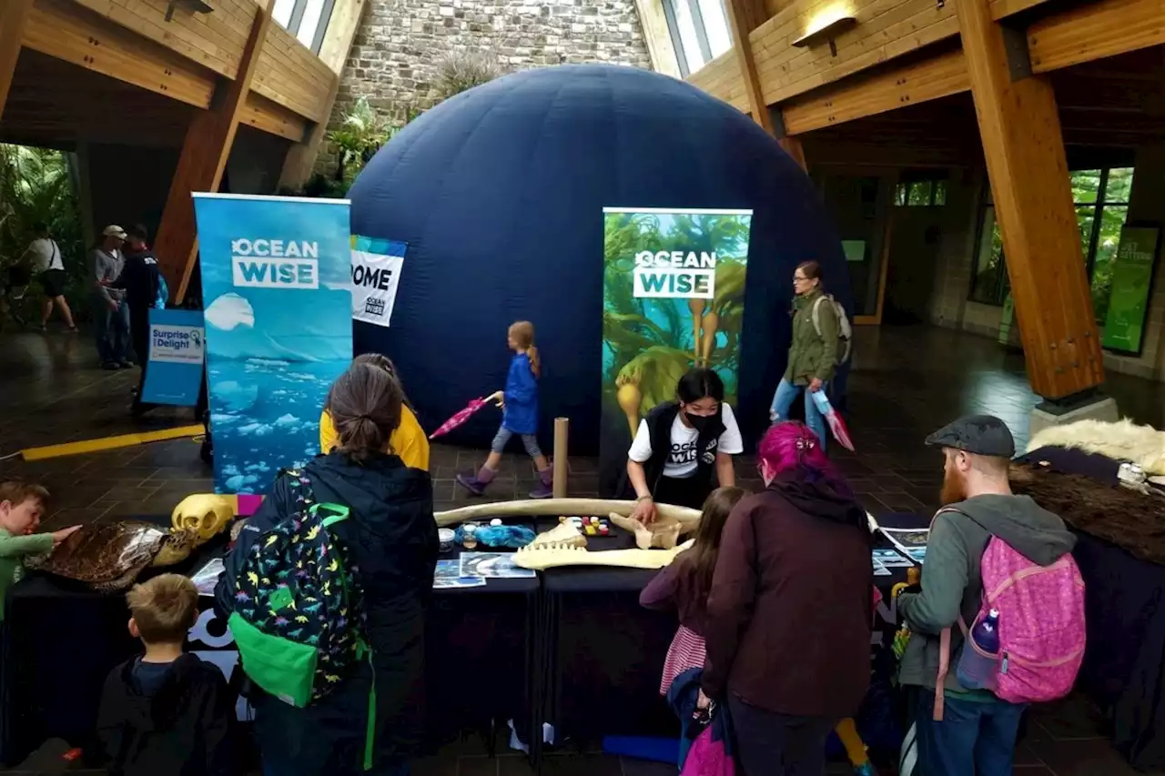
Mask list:
[[[927,518],[896,514],[882,518],[891,528],[923,528]],[[634,546],[629,534],[588,539],[591,550]],[[881,534],[875,546],[892,546]],[[905,581],[905,569],[875,577],[884,601],[875,614],[876,640],[888,644],[896,615],[890,587]],[[659,697],[668,647],[676,635],[675,614],[649,612],[640,592],[658,572],[638,569],[576,566],[543,576],[548,644],[543,672],[544,720],[558,741],[603,735],[675,735],[676,719]]]

